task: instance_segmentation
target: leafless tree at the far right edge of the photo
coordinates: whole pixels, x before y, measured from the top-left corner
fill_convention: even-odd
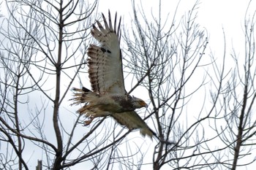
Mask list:
[[[255,162],[255,12],[248,17],[249,2],[244,19],[244,54],[233,49],[228,62],[228,77],[222,87],[222,95],[216,106],[213,129],[220,143],[227,147],[219,162],[228,169],[237,169]],[[224,54],[225,55],[225,54]],[[226,59],[227,60],[227,59]],[[225,63],[227,61],[224,61]],[[232,64],[231,64],[232,63]],[[228,66],[226,66],[228,68]],[[224,84],[224,83],[223,83]]]

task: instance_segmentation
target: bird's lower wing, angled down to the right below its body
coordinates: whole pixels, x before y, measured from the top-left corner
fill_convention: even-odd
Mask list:
[[[139,128],[140,134],[143,136],[148,135],[152,138],[154,132],[148,127],[143,119],[138,115],[137,112],[122,112],[114,113],[111,115],[118,123],[127,126],[129,130]]]

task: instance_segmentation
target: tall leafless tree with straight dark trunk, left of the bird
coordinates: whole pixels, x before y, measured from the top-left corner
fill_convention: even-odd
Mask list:
[[[91,162],[118,139],[108,144],[106,135],[94,142],[102,120],[85,129],[80,115],[66,106],[72,98],[69,89],[86,63],[97,1],[5,2],[9,16],[1,26],[0,167],[29,169],[42,160],[47,169],[68,169]]]

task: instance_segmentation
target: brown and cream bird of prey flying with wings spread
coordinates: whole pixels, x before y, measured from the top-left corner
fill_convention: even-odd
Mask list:
[[[117,13],[116,13],[117,15]],[[92,24],[91,35],[99,42],[98,45],[89,45],[87,55],[89,80],[88,88],[73,88],[73,104],[84,104],[78,113],[88,117],[85,125],[89,125],[95,117],[113,117],[120,125],[129,130],[140,129],[140,134],[152,138],[154,131],[135,112],[135,109],[147,107],[145,101],[130,96],[124,88],[124,74],[120,49],[121,17],[118,22],[115,15],[114,25],[108,11],[108,22],[102,13],[105,28],[97,20]]]

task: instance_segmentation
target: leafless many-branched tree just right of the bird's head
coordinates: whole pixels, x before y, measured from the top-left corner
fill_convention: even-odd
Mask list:
[[[185,108],[206,83],[206,74],[201,74],[200,82],[195,82],[195,73],[206,65],[203,58],[208,39],[195,21],[197,4],[180,23],[174,19],[163,19],[161,7],[159,4],[159,15],[152,13],[154,21],[149,22],[148,15],[142,9],[137,11],[134,6],[134,36],[130,39],[128,34],[125,35],[132,61],[127,63],[138,80],[136,85],[143,85],[148,90],[151,107],[148,108],[146,119],[153,117],[161,141],[176,143],[172,146],[159,142],[155,146],[154,169],[161,169],[165,164],[173,169],[189,166],[200,169],[203,165],[197,163],[194,157],[199,155],[199,147],[207,139],[203,136],[204,131],[198,127],[208,119],[211,111],[203,114],[203,109],[198,109],[195,113],[198,119],[194,123],[182,125],[182,119],[191,114],[185,112]],[[140,13],[141,16],[138,15]],[[203,104],[199,107],[203,108]],[[187,156],[187,152],[192,155]],[[204,154],[207,153],[200,153]]]

